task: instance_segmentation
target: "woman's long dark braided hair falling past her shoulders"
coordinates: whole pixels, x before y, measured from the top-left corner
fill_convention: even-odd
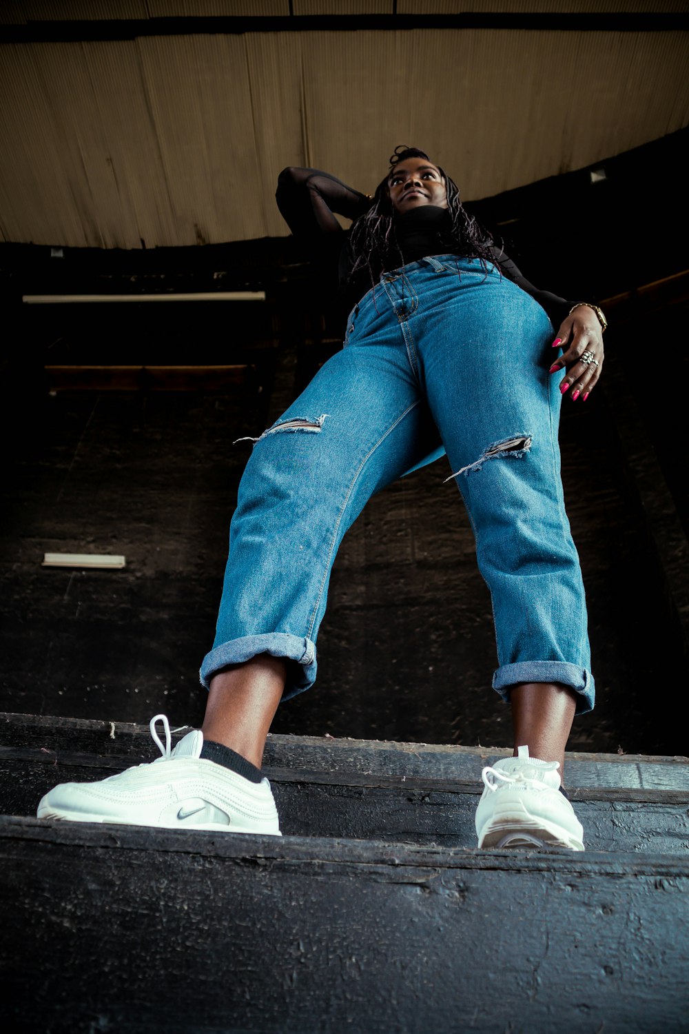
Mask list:
[[[406,158],[431,160],[426,151],[421,151],[417,147],[398,145],[395,148],[395,153],[389,157],[387,175],[376,187],[373,204],[364,215],[352,223],[349,232],[347,283],[351,282],[357,271],[363,270],[365,266],[368,267],[371,284],[374,288],[374,302],[376,282],[383,270],[397,269],[405,264],[395,231],[393,205],[385,192],[385,187],[392,171]],[[456,252],[459,255],[479,258],[483,272],[488,274],[488,263],[495,262],[494,253],[491,250],[493,240],[474,216],[469,215],[462,206],[457,183],[447,176],[440,165],[436,168],[445,181],[447,211],[451,218],[451,226],[448,231],[440,234],[440,241],[443,247],[447,247],[448,253]],[[458,275],[461,276],[457,263],[455,265]]]

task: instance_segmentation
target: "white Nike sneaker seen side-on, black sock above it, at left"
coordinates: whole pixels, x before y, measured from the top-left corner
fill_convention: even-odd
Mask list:
[[[164,748],[155,728],[158,721],[165,728]],[[164,714],[151,719],[150,729],[161,757],[98,783],[62,783],[42,798],[38,818],[281,835],[267,779],[251,783],[199,758],[200,729],[187,733],[174,751]]]

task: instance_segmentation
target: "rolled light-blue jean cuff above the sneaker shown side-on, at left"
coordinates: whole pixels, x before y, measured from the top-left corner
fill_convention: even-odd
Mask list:
[[[201,663],[199,677],[208,690],[213,676],[228,664],[243,664],[258,653],[283,657],[295,664],[287,665],[287,681],[283,700],[311,689],[316,680],[316,644],[302,636],[284,632],[269,632],[260,636],[243,636],[214,646]]]

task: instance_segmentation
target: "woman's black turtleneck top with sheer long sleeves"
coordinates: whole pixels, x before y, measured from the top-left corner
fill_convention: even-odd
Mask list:
[[[371,207],[371,199],[353,187],[347,186],[330,173],[318,169],[284,169],[278,178],[275,194],[278,208],[294,237],[312,243],[326,261],[337,264],[339,296],[343,307],[353,308],[371,288],[368,270],[357,270],[349,281],[350,261],[346,246],[348,231],[335,218],[334,212],[347,219],[357,219]],[[458,254],[455,246],[443,244],[441,234],[448,231],[450,216],[447,209],[436,205],[422,205],[409,212],[397,213],[395,232],[404,256],[404,265],[425,255]],[[526,291],[547,312],[557,330],[569,309],[575,304],[550,291],[534,287],[516,268],[507,254],[497,246],[491,249],[495,263],[504,276]],[[399,260],[390,269],[403,265]]]

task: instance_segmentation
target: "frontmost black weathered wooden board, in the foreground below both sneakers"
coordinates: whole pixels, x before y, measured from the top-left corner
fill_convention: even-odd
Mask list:
[[[0,820],[18,1031],[686,1029],[685,858]]]

